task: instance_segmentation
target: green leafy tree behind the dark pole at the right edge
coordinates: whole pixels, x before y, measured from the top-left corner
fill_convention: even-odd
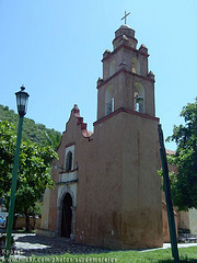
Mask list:
[[[169,161],[177,167],[172,173],[171,191],[173,203],[179,210],[197,208],[197,99],[183,107],[181,116],[185,125],[174,126],[167,140],[177,145],[175,156]]]

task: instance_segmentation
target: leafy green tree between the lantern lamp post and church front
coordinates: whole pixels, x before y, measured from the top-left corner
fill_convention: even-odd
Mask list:
[[[31,141],[23,142],[20,156],[18,191],[15,195],[15,211],[26,217],[26,230],[30,230],[30,216],[36,209],[36,203],[42,199],[45,188],[53,187],[50,164],[57,153],[51,147],[40,147]]]

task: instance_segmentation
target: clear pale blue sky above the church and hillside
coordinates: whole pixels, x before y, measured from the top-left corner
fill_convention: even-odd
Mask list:
[[[164,137],[172,135],[197,96],[196,0],[0,0],[0,104],[16,112],[14,93],[24,84],[26,117],[63,132],[78,104],[93,130],[101,60],[125,10],[138,47],[148,47],[157,116]]]

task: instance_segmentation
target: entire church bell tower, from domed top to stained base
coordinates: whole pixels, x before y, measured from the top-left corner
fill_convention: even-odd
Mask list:
[[[113,52],[103,54],[94,123],[96,187],[102,185],[103,214],[112,222],[102,225],[102,240],[123,249],[163,244],[154,75],[148,69],[148,48],[137,44],[135,31],[121,25]]]

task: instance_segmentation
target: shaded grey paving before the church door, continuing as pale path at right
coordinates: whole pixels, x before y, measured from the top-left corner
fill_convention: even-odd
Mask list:
[[[73,244],[65,238],[46,238],[35,236],[34,233],[15,233],[15,251],[14,258],[23,258],[31,255],[50,255],[50,254],[93,254],[107,253],[111,250],[95,248],[91,245]],[[188,248],[197,245],[197,243],[183,243],[178,248]],[[163,249],[171,248],[171,244],[165,243]],[[148,250],[143,250],[148,251]],[[150,250],[151,251],[151,250]]]

